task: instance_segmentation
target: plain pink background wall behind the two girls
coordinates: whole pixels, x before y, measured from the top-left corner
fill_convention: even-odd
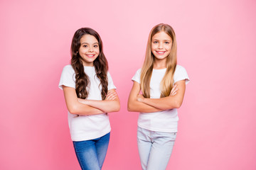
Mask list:
[[[0,1],[0,169],[80,169],[60,73],[75,30],[100,33],[121,101],[103,169],[140,169],[131,78],[149,31],[176,30],[188,84],[167,169],[256,169],[256,1]]]

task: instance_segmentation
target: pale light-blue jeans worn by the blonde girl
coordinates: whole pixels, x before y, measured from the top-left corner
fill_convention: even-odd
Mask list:
[[[176,132],[139,128],[137,142],[143,170],[165,170],[176,140]]]

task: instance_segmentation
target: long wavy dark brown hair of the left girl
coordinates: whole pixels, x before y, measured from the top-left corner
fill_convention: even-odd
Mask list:
[[[95,67],[95,72],[97,78],[100,79],[100,86],[102,86],[102,100],[104,100],[107,96],[107,70],[108,70],[108,63],[107,59],[103,53],[103,45],[100,35],[92,28],[80,28],[77,30],[73,36],[73,40],[71,43],[71,65],[75,70],[75,92],[78,98],[87,98],[88,90],[90,89],[90,79],[85,74],[84,66],[82,64],[82,57],[79,55],[79,48],[80,48],[80,39],[83,35],[92,35],[94,36],[97,41],[99,42],[100,47],[100,54],[99,56],[93,61],[93,65]]]

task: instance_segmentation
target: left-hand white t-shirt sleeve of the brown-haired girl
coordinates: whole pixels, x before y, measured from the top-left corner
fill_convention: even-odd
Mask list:
[[[58,87],[63,90],[63,85],[75,89],[75,71],[71,65],[67,65],[63,68]]]

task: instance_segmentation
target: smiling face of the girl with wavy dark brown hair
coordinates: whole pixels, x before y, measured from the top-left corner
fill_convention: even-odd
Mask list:
[[[90,34],[82,35],[78,52],[84,66],[93,66],[93,61],[100,54],[99,42]]]

